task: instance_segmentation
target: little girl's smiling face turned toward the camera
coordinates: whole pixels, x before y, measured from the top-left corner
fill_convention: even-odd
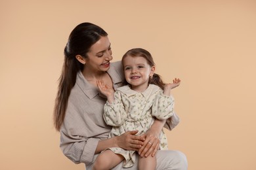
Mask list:
[[[155,66],[150,66],[145,58],[140,56],[126,56],[123,59],[123,69],[126,81],[131,84],[131,89],[143,92],[148,88],[148,80],[154,75]]]

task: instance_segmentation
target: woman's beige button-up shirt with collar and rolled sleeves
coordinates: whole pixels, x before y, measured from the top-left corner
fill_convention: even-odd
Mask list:
[[[108,74],[116,90],[124,80],[121,62],[111,63]],[[64,123],[60,127],[60,148],[74,163],[89,165],[95,156],[98,141],[108,138],[111,126],[103,119],[106,97],[87,82],[81,72],[77,73],[74,88],[68,99]],[[179,117],[173,114],[165,124],[171,130],[179,124]]]

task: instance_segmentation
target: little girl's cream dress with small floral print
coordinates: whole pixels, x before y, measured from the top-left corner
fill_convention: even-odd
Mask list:
[[[137,135],[145,133],[154,123],[154,118],[159,120],[173,116],[173,96],[163,94],[160,87],[149,84],[144,92],[135,92],[129,85],[117,88],[113,103],[104,106],[104,120],[113,126],[109,137],[114,137],[126,131],[139,130]],[[165,134],[160,135],[160,149],[168,149]],[[116,154],[121,154],[125,161],[123,167],[131,167],[135,162],[135,151],[123,148],[108,148]]]

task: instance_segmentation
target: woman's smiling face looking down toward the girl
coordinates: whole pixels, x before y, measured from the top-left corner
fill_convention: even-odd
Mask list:
[[[91,46],[85,58],[85,69],[90,71],[108,71],[110,69],[110,61],[113,59],[110,41],[108,37],[100,37],[100,39]]]

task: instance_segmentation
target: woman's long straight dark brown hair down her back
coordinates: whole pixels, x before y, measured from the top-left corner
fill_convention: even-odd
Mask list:
[[[77,25],[70,33],[68,43],[64,48],[64,63],[54,105],[53,120],[56,130],[60,131],[60,127],[64,122],[68,97],[75,85],[77,72],[82,71],[84,67],[75,56],[81,55],[83,58],[87,58],[87,52],[89,52],[91,46],[100,37],[107,35],[108,33],[104,29],[88,22]]]

